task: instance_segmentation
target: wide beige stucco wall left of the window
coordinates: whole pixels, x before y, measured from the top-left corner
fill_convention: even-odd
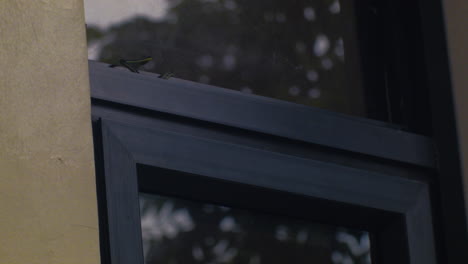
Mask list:
[[[82,0],[0,0],[0,263],[99,263]]]

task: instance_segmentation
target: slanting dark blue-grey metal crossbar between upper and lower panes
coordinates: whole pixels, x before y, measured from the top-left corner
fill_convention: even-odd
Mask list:
[[[134,74],[89,62],[91,97],[300,140],[344,151],[434,168],[428,137],[380,121],[156,74]]]

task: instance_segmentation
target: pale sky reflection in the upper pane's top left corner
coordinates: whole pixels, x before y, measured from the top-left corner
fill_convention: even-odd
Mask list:
[[[167,0],[85,0],[86,23],[101,29],[125,21],[134,16],[145,16],[152,20],[164,17]]]

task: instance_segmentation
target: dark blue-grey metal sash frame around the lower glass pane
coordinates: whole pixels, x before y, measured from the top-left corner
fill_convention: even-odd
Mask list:
[[[305,197],[302,200],[311,208],[320,205],[320,213],[329,222],[345,226],[359,223],[372,230],[374,241],[379,241],[373,256],[377,263],[437,263],[428,183],[195,137],[152,124],[101,118],[100,128],[96,129],[102,137],[110,263],[143,263],[139,165],[201,175],[231,185],[255,186],[286,197]],[[143,181],[153,186],[146,190],[169,188],[169,192],[187,195],[187,187],[175,190],[151,177]],[[218,200],[216,195],[211,199]],[[249,202],[246,197],[237,199]],[[280,210],[269,202],[264,200],[259,208]],[[360,208],[360,213],[343,218],[337,204]],[[384,213],[392,215],[392,220],[375,216]],[[310,219],[317,220],[313,216]]]

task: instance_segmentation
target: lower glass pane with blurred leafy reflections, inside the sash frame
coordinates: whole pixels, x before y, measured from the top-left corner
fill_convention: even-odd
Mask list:
[[[369,264],[369,234],[140,194],[145,263]]]

